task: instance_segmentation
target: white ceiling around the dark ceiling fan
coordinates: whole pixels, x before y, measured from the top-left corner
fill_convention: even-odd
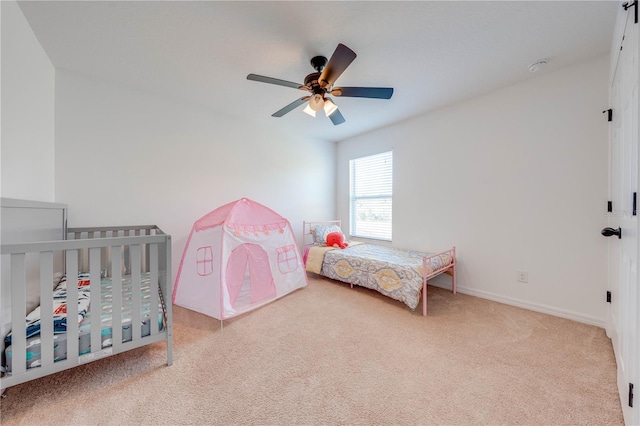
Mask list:
[[[60,69],[159,92],[303,137],[342,140],[605,54],[617,1],[20,2]],[[393,87],[390,100],[335,98],[346,123],[302,107],[309,60],[338,43],[358,57],[336,86]]]

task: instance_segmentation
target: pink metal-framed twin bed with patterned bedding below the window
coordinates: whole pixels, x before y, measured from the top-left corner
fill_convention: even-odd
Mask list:
[[[339,220],[303,222],[304,261],[308,272],[351,285],[376,290],[399,300],[411,310],[422,296],[422,315],[427,315],[427,281],[451,275],[456,292],[456,249],[440,253],[402,250],[391,246],[351,242],[340,249],[326,247],[326,235],[342,232]]]

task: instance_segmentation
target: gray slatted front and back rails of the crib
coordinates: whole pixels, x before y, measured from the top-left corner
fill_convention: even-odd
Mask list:
[[[6,389],[38,377],[52,374],[112,354],[128,351],[160,340],[167,340],[167,364],[172,363],[172,313],[171,295],[171,237],[155,226],[127,226],[108,228],[71,228],[67,240],[33,243],[4,244],[0,248],[3,265],[9,265],[12,330],[11,372],[0,378],[0,388]],[[8,257],[8,262],[5,262]],[[40,284],[41,310],[41,361],[40,366],[26,366],[27,277],[37,269]],[[67,276],[68,319],[78,317],[78,272],[88,272],[90,277],[90,305],[98,307],[97,316],[90,323],[91,349],[79,354],[78,321],[67,321],[67,356],[54,360],[53,290],[60,272]],[[162,304],[163,327],[157,320],[150,320],[150,334],[141,336],[141,275],[150,276],[150,306]],[[122,277],[130,275],[132,288],[132,338],[123,342],[122,336]],[[99,307],[101,305],[101,278],[112,279],[113,317],[112,345],[102,348]],[[95,286],[95,287],[94,287]],[[95,320],[97,318],[98,320]],[[152,316],[153,318],[153,316]]]

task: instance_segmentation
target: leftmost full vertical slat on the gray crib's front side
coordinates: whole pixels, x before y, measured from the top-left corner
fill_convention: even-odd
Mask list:
[[[11,370],[13,374],[27,369],[27,271],[24,253],[11,255]]]

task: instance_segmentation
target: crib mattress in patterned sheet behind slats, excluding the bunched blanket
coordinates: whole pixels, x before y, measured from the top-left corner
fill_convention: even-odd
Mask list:
[[[80,285],[80,282],[79,282]],[[88,287],[83,286],[84,289]],[[86,290],[85,290],[86,291]],[[141,318],[141,335],[148,336],[151,332],[151,288],[149,274],[143,274],[140,284],[141,292],[141,305],[142,310],[140,313]],[[101,341],[102,348],[108,348],[112,345],[112,332],[113,332],[113,309],[112,309],[112,282],[111,278],[103,278],[101,280],[101,306],[100,306],[100,321],[101,321]],[[92,309],[93,308],[93,309]],[[37,308],[36,308],[37,310]],[[34,312],[36,311],[34,310]],[[93,314],[92,314],[93,311]],[[155,310],[154,310],[155,311]],[[158,328],[163,328],[163,315],[162,305],[158,305],[157,308]],[[33,313],[32,313],[33,314]],[[132,314],[133,314],[133,302],[131,297],[131,277],[125,277],[122,279],[122,342],[128,342],[132,339]],[[30,314],[31,317],[33,315]],[[79,343],[79,355],[84,355],[91,352],[91,320],[95,318],[96,310],[94,307],[88,306],[88,309],[83,313],[83,317],[80,318],[79,330],[78,330],[78,343]],[[58,321],[60,322],[60,321]],[[55,320],[54,320],[55,324]],[[33,327],[31,327],[33,330]],[[38,332],[29,334],[27,338],[27,369],[39,367],[41,363],[41,349],[40,349],[40,334],[39,326]],[[66,328],[54,326],[54,361],[61,361],[67,358],[67,335],[64,332]],[[8,336],[10,337],[10,336]],[[5,339],[7,346],[5,348],[5,369],[7,372],[11,372],[11,365],[13,361],[12,350],[10,346],[10,338]]]

